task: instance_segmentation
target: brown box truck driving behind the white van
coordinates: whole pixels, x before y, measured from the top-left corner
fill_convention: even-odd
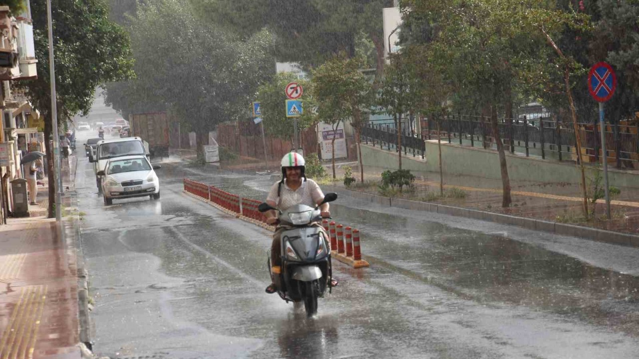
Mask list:
[[[130,136],[141,137],[149,144],[151,157],[169,157],[169,118],[166,112],[130,114]]]

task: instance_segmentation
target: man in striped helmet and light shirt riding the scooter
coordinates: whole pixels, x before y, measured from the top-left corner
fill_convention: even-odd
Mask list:
[[[271,187],[268,197],[266,197],[266,203],[273,208],[279,210],[286,210],[296,204],[306,204],[307,206],[314,207],[324,201],[324,194],[321,192],[319,185],[312,179],[307,179],[305,172],[304,157],[299,153],[290,152],[282,157],[282,180],[276,182]],[[321,210],[321,217],[330,217],[330,211],[328,203],[324,203],[319,208]],[[277,213],[275,211],[267,211],[266,223],[276,224]],[[321,224],[314,224],[321,227]],[[275,234],[273,234],[273,242],[271,245],[271,265],[280,266],[282,264],[281,255],[281,234],[286,230],[285,227],[277,227]],[[329,246],[330,243],[327,243]],[[337,286],[337,280],[332,280],[331,286]],[[277,287],[275,284],[270,284],[266,287],[266,293],[275,293]]]

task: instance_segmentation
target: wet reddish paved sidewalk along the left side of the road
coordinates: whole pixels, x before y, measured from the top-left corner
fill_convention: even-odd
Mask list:
[[[63,202],[73,201],[75,158],[63,172]],[[46,183],[46,181],[45,181]],[[81,358],[75,221],[47,218],[38,187],[30,218],[0,226],[0,358]]]

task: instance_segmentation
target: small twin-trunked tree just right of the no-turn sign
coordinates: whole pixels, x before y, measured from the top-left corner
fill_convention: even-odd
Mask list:
[[[364,182],[364,164],[362,163],[360,132],[362,130],[362,111],[369,109],[372,103],[373,86],[360,72],[362,59],[335,56],[312,73],[313,96],[318,105],[318,119],[333,126],[332,167],[335,179],[335,138],[339,123],[351,119],[355,128],[357,152],[360,165],[360,179]]]

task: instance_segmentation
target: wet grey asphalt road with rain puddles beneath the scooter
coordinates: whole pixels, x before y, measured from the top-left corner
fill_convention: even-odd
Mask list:
[[[79,141],[80,143],[81,141]],[[267,231],[181,193],[261,198],[270,179],[166,162],[161,196],[76,187],[98,355],[112,358],[639,358],[639,250],[342,198],[371,268],[307,319],[268,284]]]

